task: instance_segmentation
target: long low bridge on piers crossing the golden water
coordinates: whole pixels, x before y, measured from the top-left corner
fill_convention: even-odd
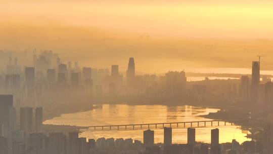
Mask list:
[[[194,121],[194,122],[169,122],[169,123],[149,123],[149,124],[128,124],[128,125],[105,125],[105,126],[89,126],[89,130],[137,130],[137,129],[163,129],[164,127],[171,128],[198,128],[198,127],[214,127],[234,125],[233,123],[223,122],[219,120],[213,121]]]

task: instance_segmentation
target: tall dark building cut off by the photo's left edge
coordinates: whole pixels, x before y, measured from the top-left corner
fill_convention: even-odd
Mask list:
[[[11,117],[9,111],[12,106],[13,95],[0,95],[0,126],[2,125],[2,132],[0,132],[0,136],[5,135],[10,129],[9,126]]]

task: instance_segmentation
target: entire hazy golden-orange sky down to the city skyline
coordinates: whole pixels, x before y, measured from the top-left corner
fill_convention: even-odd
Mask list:
[[[1,1],[0,46],[124,69],[133,56],[150,72],[251,67],[265,54],[273,69],[272,10],[273,1]]]

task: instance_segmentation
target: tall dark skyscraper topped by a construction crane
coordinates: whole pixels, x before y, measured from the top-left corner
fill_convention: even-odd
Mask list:
[[[251,81],[251,99],[254,104],[257,103],[259,96],[260,83],[260,62],[252,62],[252,81]]]

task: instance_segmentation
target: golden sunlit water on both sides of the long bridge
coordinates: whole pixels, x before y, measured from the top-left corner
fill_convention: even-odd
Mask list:
[[[99,126],[118,124],[145,124],[164,122],[189,122],[189,121],[209,121],[211,119],[200,117],[209,112],[216,112],[217,108],[197,107],[197,106],[166,106],[166,105],[125,105],[125,104],[103,104],[101,107],[69,114],[62,114],[60,117],[45,121],[43,124],[53,125],[73,125],[73,126]],[[215,127],[196,128],[196,141],[210,142],[210,130]],[[219,142],[231,142],[236,139],[240,143],[250,140],[245,136],[248,131],[241,130],[240,126],[217,126],[219,129]],[[163,142],[163,130],[155,129],[155,142]],[[109,130],[92,131],[82,130],[80,137],[98,139],[105,138],[132,138],[143,141],[144,130]],[[173,143],[187,143],[187,129],[173,127]]]

